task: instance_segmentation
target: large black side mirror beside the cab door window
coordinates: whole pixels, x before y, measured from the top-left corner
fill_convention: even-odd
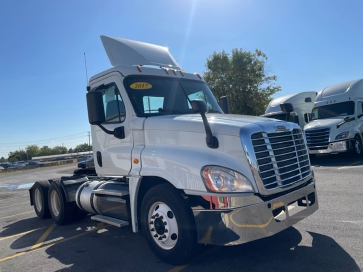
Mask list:
[[[105,109],[101,92],[87,92],[88,121],[91,125],[105,122]]]

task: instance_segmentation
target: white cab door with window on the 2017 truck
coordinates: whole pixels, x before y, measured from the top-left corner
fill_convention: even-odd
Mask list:
[[[96,172],[102,176],[126,176],[131,170],[134,144],[130,128],[131,105],[122,84],[122,76],[111,73],[93,83],[91,88],[102,93],[106,120],[103,127],[109,131],[117,129],[119,132],[116,137],[97,125],[91,126]]]

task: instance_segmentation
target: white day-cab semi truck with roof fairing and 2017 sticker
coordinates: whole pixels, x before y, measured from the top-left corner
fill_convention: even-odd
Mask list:
[[[165,47],[101,40],[113,67],[90,78],[86,95],[97,174],[36,182],[38,217],[131,224],[156,256],[180,264],[197,243],[264,238],[318,209],[298,125],[228,114],[228,100],[223,111]]]

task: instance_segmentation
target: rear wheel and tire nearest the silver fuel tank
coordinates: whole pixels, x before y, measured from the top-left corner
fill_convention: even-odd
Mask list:
[[[53,180],[48,191],[49,212],[57,225],[70,223],[74,219],[76,202],[67,202],[60,181]]]

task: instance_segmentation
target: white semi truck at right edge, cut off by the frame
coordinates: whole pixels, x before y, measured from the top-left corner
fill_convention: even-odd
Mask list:
[[[351,151],[362,156],[363,79],[321,90],[304,131],[310,154]]]

